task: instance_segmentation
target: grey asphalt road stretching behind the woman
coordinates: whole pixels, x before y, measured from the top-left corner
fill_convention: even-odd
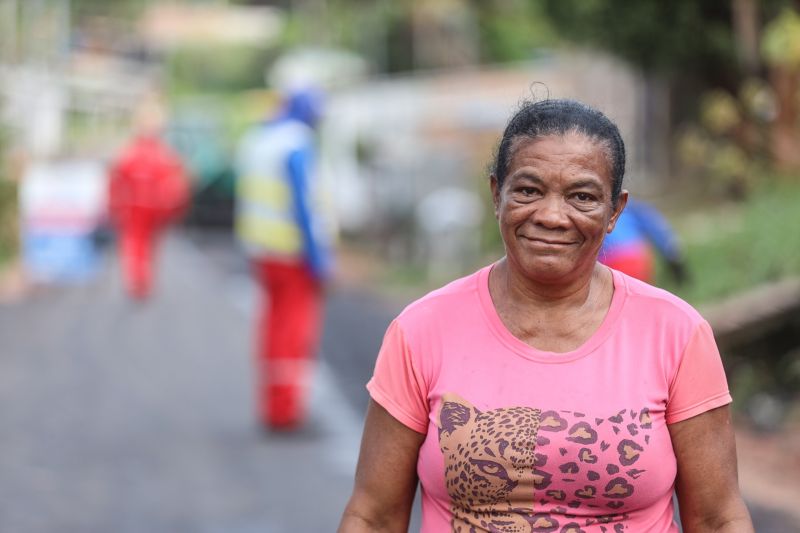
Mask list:
[[[364,383],[398,304],[332,289],[311,420],[265,434],[251,402],[255,293],[241,255],[227,236],[182,233],[159,266],[144,304],[126,299],[110,256],[88,284],[0,305],[0,531],[333,531],[352,487]],[[753,511],[758,531],[792,531]]]

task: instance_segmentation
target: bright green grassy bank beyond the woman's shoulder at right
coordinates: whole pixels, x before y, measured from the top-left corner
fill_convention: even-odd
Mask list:
[[[657,284],[692,304],[720,300],[761,283],[800,275],[800,183],[774,178],[746,203],[682,216],[690,282],[660,271]]]

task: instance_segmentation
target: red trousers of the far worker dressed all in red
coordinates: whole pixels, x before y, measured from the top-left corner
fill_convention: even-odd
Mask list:
[[[153,252],[158,231],[152,224],[131,223],[119,232],[122,275],[125,289],[136,299],[144,299],[153,286]]]

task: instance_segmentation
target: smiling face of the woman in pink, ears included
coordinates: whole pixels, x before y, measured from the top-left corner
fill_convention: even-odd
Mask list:
[[[515,148],[503,187],[491,182],[509,266],[543,282],[588,276],[627,202],[623,191],[611,203],[607,152],[580,133],[520,139]]]

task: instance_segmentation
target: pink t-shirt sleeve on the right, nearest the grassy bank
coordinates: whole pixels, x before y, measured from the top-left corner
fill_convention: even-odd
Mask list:
[[[732,401],[711,326],[695,327],[683,351],[667,402],[667,424],[697,416]]]

